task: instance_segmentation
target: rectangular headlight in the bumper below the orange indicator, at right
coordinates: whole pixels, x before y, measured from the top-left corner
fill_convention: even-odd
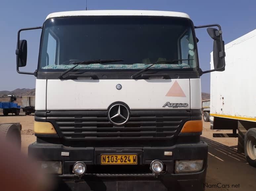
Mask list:
[[[203,169],[203,160],[176,160],[175,173],[195,173]]]

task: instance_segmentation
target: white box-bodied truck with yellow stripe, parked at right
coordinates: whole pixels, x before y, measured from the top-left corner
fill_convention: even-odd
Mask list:
[[[238,137],[237,151],[256,167],[256,30],[225,45],[226,69],[211,73],[210,121],[212,129],[231,129]],[[212,53],[211,53],[212,56]],[[211,68],[213,68],[211,59]],[[238,129],[238,134],[237,134]]]

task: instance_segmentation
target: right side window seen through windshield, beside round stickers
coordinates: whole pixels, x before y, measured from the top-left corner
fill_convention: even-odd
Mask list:
[[[194,45],[193,37],[191,32],[187,32],[180,39],[180,59],[187,59],[182,61],[182,63],[188,64],[191,68],[194,67]]]

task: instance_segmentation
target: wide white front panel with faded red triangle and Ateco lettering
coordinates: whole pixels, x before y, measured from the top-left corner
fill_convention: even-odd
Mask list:
[[[174,88],[170,90],[174,83]],[[196,83],[199,84],[199,87]],[[116,89],[117,84],[122,85],[121,90]],[[200,80],[193,82],[192,85],[196,88],[194,91],[199,91],[198,94],[193,92],[193,96],[199,96],[193,98],[193,101],[194,99],[200,100]],[[172,94],[170,91],[174,91],[174,93]],[[180,93],[177,94],[177,91]],[[166,96],[167,93],[168,96]],[[190,80],[47,81],[47,110],[105,110],[114,102],[124,102],[130,109],[190,109]],[[166,102],[187,103],[188,106],[163,107]],[[193,104],[193,107],[201,108],[197,103]]]

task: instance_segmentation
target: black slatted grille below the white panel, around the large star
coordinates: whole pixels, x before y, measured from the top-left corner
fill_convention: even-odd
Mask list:
[[[131,110],[128,123],[114,126],[107,111],[51,111],[51,122],[66,140],[166,140],[178,135],[190,120],[187,110]]]

